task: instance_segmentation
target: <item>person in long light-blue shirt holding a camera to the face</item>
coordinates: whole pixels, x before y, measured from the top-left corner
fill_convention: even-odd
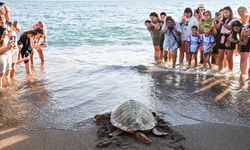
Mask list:
[[[177,22],[174,21],[172,17],[169,16],[166,18],[166,22],[163,24],[162,33],[164,34],[163,49],[166,51],[166,53],[170,53],[173,56],[172,67],[174,68],[176,65],[177,49],[181,35],[181,27]]]

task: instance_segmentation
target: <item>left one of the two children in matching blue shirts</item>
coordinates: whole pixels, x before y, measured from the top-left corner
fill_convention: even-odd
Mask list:
[[[191,61],[192,61],[192,56],[194,56],[195,60],[195,67],[197,66],[197,53],[198,49],[200,47],[201,39],[200,36],[198,35],[198,27],[196,25],[192,26],[192,35],[189,36],[188,38],[188,44],[189,44],[189,60],[188,60],[188,65],[189,67],[191,66]]]

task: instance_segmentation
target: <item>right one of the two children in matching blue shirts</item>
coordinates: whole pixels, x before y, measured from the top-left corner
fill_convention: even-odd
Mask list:
[[[212,68],[212,65],[210,63],[210,55],[216,43],[215,43],[214,36],[211,34],[211,30],[212,30],[212,27],[210,25],[205,25],[204,33],[201,35],[204,69],[207,68],[207,63],[209,65],[209,68],[210,69]]]

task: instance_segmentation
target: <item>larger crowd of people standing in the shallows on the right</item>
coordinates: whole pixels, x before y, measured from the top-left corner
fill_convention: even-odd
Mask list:
[[[239,18],[227,6],[213,17],[201,4],[194,11],[186,8],[179,21],[166,12],[160,15],[152,12],[145,25],[151,33],[156,61],[171,61],[174,68],[179,50],[179,65],[183,65],[186,58],[189,67],[193,60],[196,67],[199,58],[205,70],[215,64],[219,72],[224,72],[225,68],[233,70],[233,57],[240,54],[240,78],[247,80],[250,77],[250,19],[246,7],[240,6],[237,12]]]

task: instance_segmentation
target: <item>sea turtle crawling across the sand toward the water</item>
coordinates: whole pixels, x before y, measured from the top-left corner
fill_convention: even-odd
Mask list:
[[[121,104],[112,113],[96,115],[95,119],[110,119],[111,124],[117,128],[116,131],[109,134],[110,136],[129,132],[136,139],[145,144],[150,144],[152,141],[143,132],[152,131],[153,134],[158,136],[168,135],[168,133],[160,132],[155,128],[157,125],[155,117],[156,114],[151,112],[144,104],[135,100],[129,100]]]

